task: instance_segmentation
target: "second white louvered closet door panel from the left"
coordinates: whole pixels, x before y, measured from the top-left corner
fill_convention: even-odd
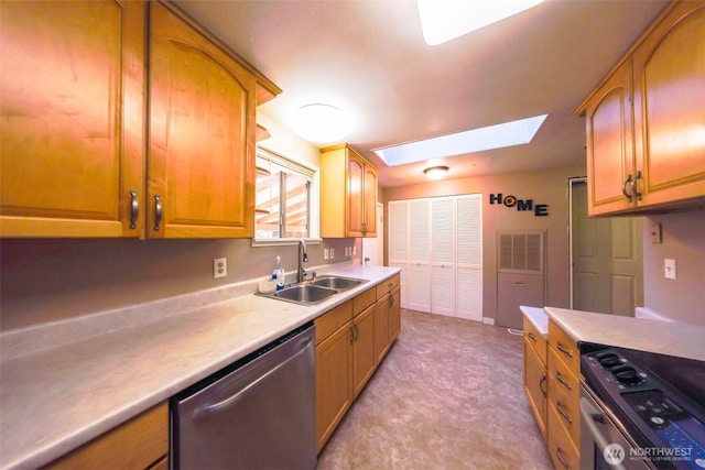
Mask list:
[[[430,206],[427,199],[409,201],[409,308],[431,311]],[[403,288],[402,288],[403,289]]]

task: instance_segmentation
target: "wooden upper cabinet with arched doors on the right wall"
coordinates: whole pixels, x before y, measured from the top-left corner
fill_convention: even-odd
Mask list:
[[[704,204],[703,57],[705,2],[672,2],[576,109],[590,215]]]

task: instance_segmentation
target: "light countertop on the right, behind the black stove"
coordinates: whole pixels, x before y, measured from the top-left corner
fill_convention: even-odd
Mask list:
[[[705,327],[544,307],[574,340],[705,361]]]

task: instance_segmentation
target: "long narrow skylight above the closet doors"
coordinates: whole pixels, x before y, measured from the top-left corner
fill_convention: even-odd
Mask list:
[[[375,151],[389,166],[405,165],[531,142],[549,114],[519,119]]]

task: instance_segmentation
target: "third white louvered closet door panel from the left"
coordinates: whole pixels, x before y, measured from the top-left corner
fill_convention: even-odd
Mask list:
[[[431,203],[431,313],[455,316],[455,201]]]

